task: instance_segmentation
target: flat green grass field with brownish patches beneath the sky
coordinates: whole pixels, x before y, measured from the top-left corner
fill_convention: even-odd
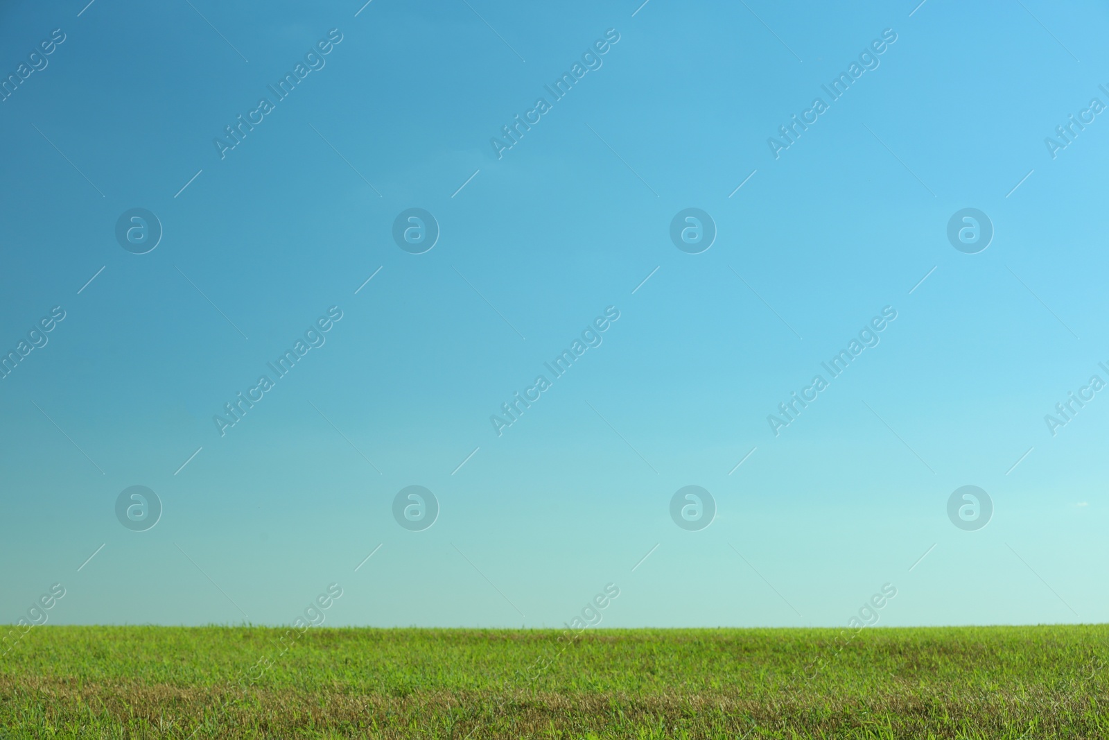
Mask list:
[[[838,633],[43,626],[0,737],[1109,738],[1109,626]]]

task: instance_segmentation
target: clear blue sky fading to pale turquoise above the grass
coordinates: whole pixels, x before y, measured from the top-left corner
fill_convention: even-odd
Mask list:
[[[1109,620],[1103,4],[85,1],[0,7],[0,621]]]

